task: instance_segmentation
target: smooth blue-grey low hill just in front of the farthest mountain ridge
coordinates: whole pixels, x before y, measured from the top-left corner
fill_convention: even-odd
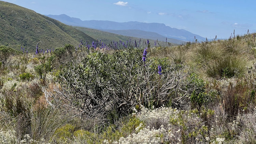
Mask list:
[[[148,32],[142,30],[102,30],[110,33],[127,35],[127,36],[134,36],[134,37],[141,37],[141,38],[150,38],[150,39],[158,39],[158,41],[166,41],[166,37],[162,36],[155,32]],[[185,44],[185,41],[181,41],[174,38],[167,38],[167,42],[174,43],[174,44]]]

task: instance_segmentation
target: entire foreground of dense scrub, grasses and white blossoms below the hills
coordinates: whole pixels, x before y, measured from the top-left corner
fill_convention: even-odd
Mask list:
[[[0,142],[255,143],[255,46],[1,46]]]

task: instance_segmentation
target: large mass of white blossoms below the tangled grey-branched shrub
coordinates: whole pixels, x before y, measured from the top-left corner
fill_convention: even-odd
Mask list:
[[[193,131],[199,133],[199,129],[205,127],[201,119],[195,114],[188,111],[179,111],[177,109],[161,107],[159,109],[149,110],[142,108],[137,116],[143,123],[136,128],[136,132],[128,135],[126,138],[121,137],[118,141],[111,142],[104,140],[104,144],[159,144],[159,143],[182,143],[182,134],[188,134]],[[179,119],[182,117],[182,119]],[[172,124],[170,119],[173,118],[177,123]],[[179,122],[181,121],[181,122]],[[158,126],[159,127],[155,127]],[[144,127],[144,128],[143,128]],[[184,129],[186,127],[186,129]],[[203,138],[200,134],[194,136],[188,143],[209,143],[210,138]]]

